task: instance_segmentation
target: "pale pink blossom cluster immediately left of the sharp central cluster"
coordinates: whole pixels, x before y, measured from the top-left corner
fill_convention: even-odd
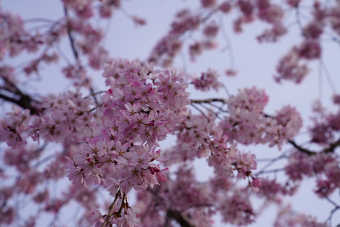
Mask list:
[[[94,106],[91,99],[83,98],[79,92],[46,97],[43,104],[37,105],[42,114],[34,115],[29,124],[29,133],[34,140],[42,138],[50,142],[73,144],[83,141],[95,133],[93,118],[98,114],[91,112]]]

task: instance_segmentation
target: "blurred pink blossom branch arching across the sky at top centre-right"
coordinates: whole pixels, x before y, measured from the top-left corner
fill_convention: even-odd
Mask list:
[[[218,35],[220,25],[217,25],[211,18],[219,12],[227,14],[232,9],[240,15],[233,23],[235,32],[241,32],[243,24],[251,23],[256,18],[272,25],[271,29],[265,30],[263,34],[257,37],[260,42],[275,42],[287,32],[282,24],[283,9],[270,3],[269,0],[224,1],[220,4],[217,1],[201,0],[200,3],[202,9],[198,13],[183,10],[176,15],[170,31],[154,47],[148,61],[165,67],[171,65],[174,57],[184,47],[183,40],[185,41],[185,37],[199,30],[202,31],[203,38],[188,45],[191,60],[194,61],[204,50],[217,47],[214,38]]]

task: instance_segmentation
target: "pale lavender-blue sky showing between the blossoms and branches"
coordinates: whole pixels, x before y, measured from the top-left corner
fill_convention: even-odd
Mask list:
[[[283,4],[283,1],[276,1],[277,4]],[[126,58],[128,60],[138,59],[146,61],[152,48],[170,29],[170,23],[174,15],[183,8],[198,9],[200,3],[197,0],[130,0],[122,1],[121,10],[115,11],[113,17],[109,20],[95,19],[93,24],[102,27],[105,33],[104,46],[109,51],[110,58]],[[312,1],[305,0],[301,3],[305,8],[301,8],[305,12],[305,17],[308,18],[308,6],[312,5]],[[23,19],[46,18],[50,20],[58,20],[63,15],[63,7],[59,0],[2,0],[1,7],[3,11],[12,11],[20,15]],[[137,25],[131,19],[132,17],[144,19],[145,26]],[[243,32],[235,34],[232,28],[232,21],[237,17],[234,12],[220,17],[217,13],[213,16],[214,20],[219,25],[221,32],[217,37],[217,46],[213,50],[204,52],[201,56],[197,56],[194,61],[190,59],[188,48],[184,48],[182,53],[175,58],[173,66],[180,71],[186,72],[186,75],[200,75],[201,72],[207,71],[209,68],[217,70],[220,74],[219,81],[223,83],[227,92],[231,95],[237,93],[238,89],[251,88],[253,86],[264,89],[269,96],[268,105],[265,112],[274,114],[275,110],[280,109],[284,105],[291,105],[301,114],[303,119],[303,128],[300,134],[296,137],[297,142],[302,144],[308,141],[306,129],[310,126],[311,106],[316,101],[322,103],[329,111],[334,111],[335,107],[331,102],[331,97],[335,92],[340,91],[340,48],[335,42],[322,41],[322,57],[321,61],[314,60],[309,64],[310,72],[307,78],[300,84],[296,85],[291,82],[283,81],[281,84],[275,83],[273,75],[275,67],[279,59],[286,54],[293,45],[298,45],[302,42],[300,30],[296,23],[292,12],[287,13],[284,18],[284,25],[288,25],[288,34],[279,39],[276,43],[260,44],[256,40],[262,31],[267,28],[267,25],[261,22],[254,22],[243,27]],[[303,17],[302,17],[303,23]],[[41,23],[27,23],[27,28],[32,30],[43,28]],[[46,27],[47,29],[48,27]],[[201,34],[192,33],[184,37],[184,45],[192,44],[196,39],[199,39]],[[73,61],[70,51],[68,39],[63,39],[60,44],[60,49],[66,58]],[[14,59],[4,59],[5,63],[14,63],[19,66],[35,55],[21,54]],[[24,73],[17,75],[20,81],[24,81],[24,88],[29,93],[58,93],[70,88],[71,84],[65,80],[60,73],[61,66],[66,65],[62,57],[59,63],[51,66],[43,66],[39,75],[26,78]],[[237,75],[234,77],[226,76],[227,69],[234,69]],[[104,78],[101,77],[102,70],[90,71],[95,89],[97,91],[105,90]],[[191,98],[226,98],[227,92],[220,89],[219,92],[196,92],[190,87],[189,92]],[[337,89],[337,91],[336,91]],[[10,105],[1,104],[2,114],[10,110]],[[196,110],[192,109],[192,112]],[[340,120],[340,119],[339,119]],[[169,147],[173,144],[175,138],[168,137],[162,141],[161,149]],[[290,145],[282,147],[278,151],[277,147],[268,148],[266,145],[243,146],[238,145],[239,150],[244,150],[254,153],[258,160],[258,170],[261,169],[267,162],[261,162],[263,158],[273,158],[282,152],[291,149]],[[312,147],[310,147],[312,148]],[[58,149],[55,145],[51,149]],[[337,153],[339,153],[337,151]],[[273,168],[283,167],[285,160],[276,162]],[[202,167],[204,166],[204,167]],[[205,160],[197,160],[195,162],[196,176],[204,181],[212,174],[212,170],[205,164]],[[270,168],[269,168],[270,169]],[[172,169],[173,170],[173,169]],[[170,171],[172,171],[170,169]],[[258,171],[257,170],[257,171]],[[255,171],[256,173],[256,171]],[[282,178],[284,173],[268,174],[270,177],[276,176]],[[65,180],[67,181],[66,177]],[[65,186],[68,182],[59,182],[55,187],[55,193],[58,188]],[[243,182],[244,183],[244,182]],[[244,185],[246,186],[246,185]],[[328,218],[330,210],[333,206],[325,199],[319,199],[313,192],[315,188],[314,179],[303,180],[298,192],[287,197],[284,203],[291,203],[294,210],[304,212],[317,217],[319,221],[325,221]],[[103,192],[103,201],[109,198]],[[331,197],[337,203],[340,203],[339,192],[333,193]],[[133,196],[130,198],[133,201]],[[261,203],[254,201],[255,207],[259,207]],[[133,202],[132,202],[133,203]],[[25,210],[30,209],[28,204]],[[76,211],[76,207],[69,204],[69,213],[65,213],[65,219],[71,218]],[[71,215],[70,215],[71,214]],[[274,206],[267,207],[260,214],[259,219],[249,226],[271,226],[276,216],[276,208]],[[39,226],[46,226],[50,217],[41,217],[46,222]],[[61,218],[64,219],[64,218]],[[216,216],[216,226],[229,226],[219,223],[219,217]],[[340,215],[333,216],[333,223],[340,222]],[[231,225],[230,225],[231,226]]]

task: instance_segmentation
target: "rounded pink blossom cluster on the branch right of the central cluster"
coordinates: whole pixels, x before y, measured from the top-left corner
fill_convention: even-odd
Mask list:
[[[220,121],[228,141],[243,144],[269,143],[272,147],[281,145],[293,138],[302,126],[299,113],[292,107],[285,106],[275,116],[263,113],[268,96],[256,88],[239,91],[237,96],[228,100],[228,116]]]

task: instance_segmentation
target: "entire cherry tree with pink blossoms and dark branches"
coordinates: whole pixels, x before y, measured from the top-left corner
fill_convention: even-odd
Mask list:
[[[263,207],[268,203],[280,207],[275,226],[327,226],[293,212],[281,201],[293,195],[304,178],[315,178],[315,194],[334,206],[328,221],[339,210],[329,195],[340,188],[340,160],[336,155],[340,111],[328,113],[320,104],[313,106],[308,143],[321,148],[309,150],[296,140],[302,119],[294,107],[286,105],[265,113],[269,97],[264,90],[252,87],[229,94],[215,69],[189,75],[170,66],[183,48],[188,48],[191,61],[216,48],[219,32],[226,41],[225,50],[232,56],[230,41],[221,28],[224,15],[230,12],[237,15],[232,23],[236,33],[256,20],[265,22],[269,28],[257,36],[263,43],[276,42],[287,33],[284,15],[293,11],[303,41],[279,60],[275,79],[302,83],[309,62],[321,61],[321,38],[326,29],[334,33],[337,42],[340,4],[314,2],[311,19],[303,25],[303,9],[297,0],[282,6],[269,0],[199,3],[198,10],[176,14],[169,32],[146,62],[110,59],[101,42],[103,30],[92,23],[95,17],[110,18],[122,9],[123,1],[64,0],[64,15],[57,21],[22,20],[0,11],[0,60],[24,52],[36,54],[22,69],[0,66],[0,98],[15,104],[0,119],[0,140],[6,144],[0,177],[6,180],[9,171],[15,171],[13,183],[6,181],[9,183],[0,187],[1,224],[21,221],[15,198],[24,196],[37,206],[34,216],[19,223],[25,226],[34,226],[41,213],[52,214],[51,224],[56,223],[61,210],[71,202],[81,206],[83,214],[72,224],[78,226],[152,227],[176,222],[180,226],[210,227],[215,214],[223,223],[239,226],[253,223],[262,211],[253,207],[251,197],[257,196]],[[136,25],[145,22],[125,10],[121,12]],[[214,21],[215,16],[220,18],[219,23]],[[43,25],[26,29],[25,23],[33,21]],[[196,34],[201,38],[188,39]],[[40,64],[57,62],[56,53],[63,53],[57,48],[62,39],[70,43],[74,63],[66,60],[61,74],[72,88],[41,96],[24,92],[16,73],[42,77]],[[104,91],[95,91],[88,68],[102,71]],[[235,73],[226,70],[229,76]],[[224,88],[227,97],[190,100],[188,86],[199,92]],[[339,97],[334,95],[335,105],[340,103]],[[176,141],[163,149],[160,142],[169,135]],[[61,151],[51,148],[53,143]],[[256,172],[255,155],[240,151],[238,144],[264,144],[278,150],[288,144],[291,149]],[[204,182],[194,174],[192,162],[198,158],[213,169]],[[267,169],[283,158],[284,167]],[[173,174],[167,173],[169,170]],[[283,183],[269,178],[281,171],[286,177]],[[50,185],[64,176],[72,185],[53,195]],[[130,205],[128,195],[132,190],[137,191],[137,199]],[[110,206],[97,201],[100,191],[114,197]],[[105,213],[101,214],[99,209],[103,208]]]

